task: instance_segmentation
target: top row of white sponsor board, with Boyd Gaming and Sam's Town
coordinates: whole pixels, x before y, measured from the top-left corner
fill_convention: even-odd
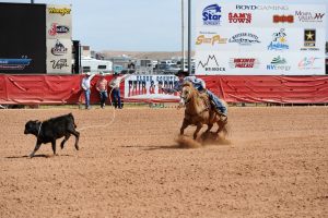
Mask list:
[[[325,27],[325,4],[247,4],[202,0],[197,2],[196,26]]]

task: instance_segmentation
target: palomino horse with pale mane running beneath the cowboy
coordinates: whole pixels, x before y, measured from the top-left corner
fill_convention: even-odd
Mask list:
[[[180,129],[181,135],[188,125],[196,125],[197,129],[194,133],[194,140],[196,140],[197,134],[203,124],[208,125],[207,132],[210,132],[214,123],[219,125],[216,134],[219,134],[221,131],[224,133],[227,132],[227,119],[223,119],[214,112],[206,93],[200,94],[191,83],[186,82],[183,85],[180,97],[180,105],[185,105],[186,107],[185,119]],[[226,106],[226,102],[224,104]]]

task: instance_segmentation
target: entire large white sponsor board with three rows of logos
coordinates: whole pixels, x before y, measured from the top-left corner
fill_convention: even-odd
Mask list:
[[[325,74],[325,4],[198,0],[196,74]]]

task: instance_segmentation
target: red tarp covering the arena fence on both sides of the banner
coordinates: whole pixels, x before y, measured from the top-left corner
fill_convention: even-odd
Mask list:
[[[200,76],[227,102],[328,102],[328,76]],[[106,76],[108,81],[112,76]],[[78,104],[82,75],[0,75],[0,105]],[[92,80],[93,104],[99,101]],[[124,83],[121,83],[124,96]]]

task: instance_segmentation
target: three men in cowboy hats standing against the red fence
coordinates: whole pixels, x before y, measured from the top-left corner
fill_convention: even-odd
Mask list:
[[[114,73],[113,80],[108,83],[105,78],[105,74],[103,72],[99,73],[101,77],[96,83],[96,90],[99,93],[101,98],[101,108],[105,108],[105,102],[108,98],[108,87],[112,89],[114,107],[121,109],[122,104],[120,100],[120,90],[119,85],[121,81],[127,76],[119,76],[118,73]],[[95,74],[86,73],[85,76],[82,78],[81,87],[84,90],[85,96],[85,109],[91,109],[90,106],[90,95],[91,95],[91,81],[95,76]]]

